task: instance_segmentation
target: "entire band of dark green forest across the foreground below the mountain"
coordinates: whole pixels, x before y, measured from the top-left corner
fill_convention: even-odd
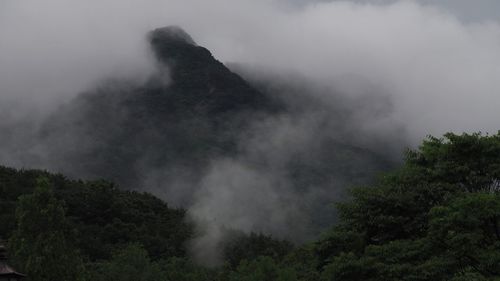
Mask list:
[[[34,281],[500,280],[499,179],[500,134],[429,138],[352,189],[319,241],[237,233],[225,264],[204,268],[185,252],[183,210],[107,182],[1,168],[0,235]]]

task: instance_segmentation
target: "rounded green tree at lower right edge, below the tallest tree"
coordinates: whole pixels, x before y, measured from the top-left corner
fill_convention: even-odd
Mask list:
[[[457,271],[500,276],[500,194],[468,194],[433,208],[429,237]]]

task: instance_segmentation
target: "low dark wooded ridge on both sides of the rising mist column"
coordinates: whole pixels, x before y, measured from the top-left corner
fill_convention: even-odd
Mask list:
[[[172,208],[149,193],[124,191],[108,181],[71,180],[47,171],[4,166],[0,166],[0,242],[11,238],[20,223],[16,215],[20,198],[32,195],[44,179],[69,221],[72,231],[66,238],[78,248],[88,270],[130,244],[141,245],[154,260],[188,257],[195,232],[184,209]],[[260,255],[281,257],[292,248],[289,242],[266,235],[226,232],[231,243],[220,247],[231,262]]]

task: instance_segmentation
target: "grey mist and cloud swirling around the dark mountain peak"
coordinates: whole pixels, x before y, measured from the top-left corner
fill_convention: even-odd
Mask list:
[[[475,3],[482,7],[481,1]],[[364,183],[352,180],[358,177],[349,174],[355,167],[376,172],[371,171],[376,166],[370,164],[371,156],[337,155],[335,149],[325,153],[325,147],[348,143],[397,162],[405,147],[418,145],[429,134],[499,129],[500,25],[494,17],[479,16],[483,13],[467,17],[462,5],[2,1],[1,164],[87,176],[54,152],[94,145],[82,138],[85,130],[71,123],[85,103],[69,110],[65,105],[88,91],[127,93],[99,88],[107,79],[140,85],[161,73],[168,83],[168,69],[158,68],[146,34],[179,25],[198,45],[230,63],[231,70],[293,110],[247,116],[253,121],[237,136],[238,153],[210,158],[201,170],[153,167],[144,155],[134,163],[142,175],[140,189],[189,209],[204,233],[191,245],[200,260],[206,260],[200,253],[214,253],[223,240],[221,227],[307,241],[320,231],[311,215],[317,210],[311,206],[326,210],[348,186]],[[66,124],[59,128],[63,133],[37,139],[42,120],[64,108],[64,116],[71,118],[61,123]],[[325,155],[335,163],[358,160],[333,165],[318,160]],[[311,175],[297,180],[291,171],[298,168],[290,163]],[[334,221],[334,216],[332,211],[319,225]]]

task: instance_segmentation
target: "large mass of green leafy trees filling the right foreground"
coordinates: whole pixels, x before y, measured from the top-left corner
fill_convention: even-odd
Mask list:
[[[497,280],[499,192],[500,133],[429,137],[338,204],[316,247],[322,279]]]

